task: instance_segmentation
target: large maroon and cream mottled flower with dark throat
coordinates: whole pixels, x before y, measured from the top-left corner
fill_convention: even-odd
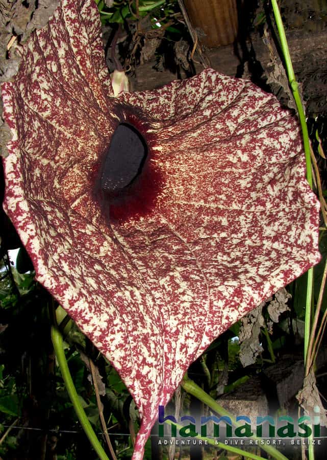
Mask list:
[[[114,98],[90,0],[63,0],[19,53],[2,85],[5,210],[130,389],[140,459],[190,363],[319,260],[297,122],[210,69]]]

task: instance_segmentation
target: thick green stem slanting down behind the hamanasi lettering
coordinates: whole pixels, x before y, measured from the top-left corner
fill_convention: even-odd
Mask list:
[[[209,396],[202,388],[200,388],[195,382],[193,382],[191,379],[189,379],[187,376],[184,376],[181,386],[185,389],[187,393],[190,395],[194,396],[195,398],[199,399],[200,401],[203,401],[205,404],[207,404],[208,407],[210,407],[212,410],[217,412],[220,416],[226,416],[229,417],[232,421],[233,426],[241,426],[240,423],[236,422],[234,417],[230,412],[228,412],[226,409],[221,407],[211,396]],[[251,439],[258,441],[260,445],[261,438],[257,438],[257,436],[251,436]],[[224,448],[227,448],[223,444]],[[265,444],[260,445],[260,448],[265,450],[269,455],[271,455],[273,458],[276,458],[276,460],[287,460],[287,457],[280,453],[277,449],[275,449],[272,446],[267,446]],[[244,455],[244,451],[243,451]],[[247,453],[246,453],[247,455]]]

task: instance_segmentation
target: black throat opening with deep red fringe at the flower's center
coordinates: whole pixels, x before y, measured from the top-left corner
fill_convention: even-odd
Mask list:
[[[161,187],[143,134],[130,121],[120,123],[100,159],[94,197],[109,222],[138,219],[153,209]]]

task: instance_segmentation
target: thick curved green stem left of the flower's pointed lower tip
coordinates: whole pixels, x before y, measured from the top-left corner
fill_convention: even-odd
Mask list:
[[[86,417],[86,413],[80,403],[79,400],[79,395],[76,391],[76,388],[74,386],[74,383],[72,381],[69,369],[68,369],[68,364],[63,348],[63,338],[61,335],[61,332],[59,331],[58,327],[52,326],[51,328],[51,338],[52,342],[54,344],[54,349],[56,353],[56,357],[58,360],[58,364],[60,367],[60,371],[62,374],[62,377],[64,379],[64,383],[68,392],[68,395],[70,397],[70,400],[72,402],[72,405],[77,413],[77,416],[81,422],[81,425],[90,440],[90,443],[92,444],[94,450],[96,451],[98,457],[100,460],[109,460],[106,452],[104,451],[102,445],[100,444],[99,440],[97,439],[96,434],[93,431],[93,428]]]

